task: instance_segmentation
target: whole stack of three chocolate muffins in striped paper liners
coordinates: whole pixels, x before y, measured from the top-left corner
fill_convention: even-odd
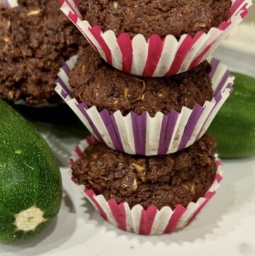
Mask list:
[[[81,45],[57,80],[57,92],[96,138],[77,146],[72,179],[118,228],[170,233],[215,194],[220,160],[204,133],[233,77],[208,52],[244,7],[231,0],[63,1],[92,45]]]

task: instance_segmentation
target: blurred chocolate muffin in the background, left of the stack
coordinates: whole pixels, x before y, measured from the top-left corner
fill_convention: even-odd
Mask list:
[[[57,0],[20,0],[16,8],[1,8],[0,96],[31,105],[58,99],[57,73],[81,40]]]

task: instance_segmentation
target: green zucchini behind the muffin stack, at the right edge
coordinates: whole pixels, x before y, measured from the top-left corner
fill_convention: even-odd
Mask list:
[[[234,92],[215,117],[208,133],[222,158],[255,155],[255,79],[232,73]]]

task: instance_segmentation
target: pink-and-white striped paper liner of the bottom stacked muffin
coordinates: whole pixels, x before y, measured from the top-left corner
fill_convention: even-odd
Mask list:
[[[82,157],[82,152],[93,143],[94,138],[91,136],[86,138],[86,140],[82,140],[77,145],[72,153],[72,157],[69,159],[70,167],[74,165],[76,160]],[[109,223],[122,230],[140,235],[162,235],[188,225],[202,210],[205,204],[210,201],[212,196],[215,195],[215,191],[222,180],[223,173],[222,162],[217,156],[215,163],[217,174],[205,196],[200,197],[196,203],[191,202],[187,207],[178,205],[174,211],[169,206],[165,206],[161,210],[158,210],[155,206],[149,206],[145,210],[139,204],[130,209],[130,206],[126,202],[118,204],[115,199],[107,201],[103,195],[96,196],[93,190],[86,189],[84,185],[77,184],[77,180],[72,176],[72,169],[69,170],[69,175],[81,192],[94,205],[96,211]]]

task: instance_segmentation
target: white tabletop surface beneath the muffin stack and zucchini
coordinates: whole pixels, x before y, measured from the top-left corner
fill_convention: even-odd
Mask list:
[[[222,45],[216,56],[231,69],[255,74],[254,55],[226,49],[228,46]],[[78,140],[45,135],[60,164],[67,166]],[[125,233],[103,221],[62,167],[64,199],[55,221],[35,239],[21,245],[0,245],[0,256],[255,255],[255,158],[224,164],[221,186],[196,220],[178,233],[158,237]]]

